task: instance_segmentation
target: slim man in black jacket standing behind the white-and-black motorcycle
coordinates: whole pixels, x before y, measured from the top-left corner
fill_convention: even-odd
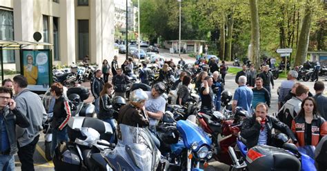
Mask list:
[[[95,97],[95,112],[97,112],[97,114],[99,114],[100,112],[100,103],[99,103],[100,92],[104,86],[104,80],[103,78],[101,78],[101,75],[102,75],[102,71],[98,69],[95,72],[95,78],[92,80],[91,83],[91,92],[93,94],[93,97]]]

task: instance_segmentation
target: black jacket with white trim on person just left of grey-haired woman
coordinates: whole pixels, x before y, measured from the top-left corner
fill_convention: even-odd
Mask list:
[[[113,119],[113,110],[112,107],[110,106],[111,103],[111,98],[109,97],[108,94],[104,94],[100,98],[100,112],[98,114],[98,119],[104,120],[104,119]]]

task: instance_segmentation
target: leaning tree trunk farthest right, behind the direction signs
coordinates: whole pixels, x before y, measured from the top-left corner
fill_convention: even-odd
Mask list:
[[[301,24],[301,32],[299,34],[299,43],[297,44],[297,53],[295,56],[295,66],[301,66],[306,61],[306,55],[308,53],[308,44],[310,36],[310,26],[312,20],[312,11],[306,2],[306,10],[304,12],[304,18]]]

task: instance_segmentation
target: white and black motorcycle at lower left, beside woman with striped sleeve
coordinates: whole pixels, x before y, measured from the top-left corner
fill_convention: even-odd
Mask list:
[[[69,142],[61,142],[54,150],[55,170],[103,170],[91,158],[115,145],[105,139],[112,136],[109,123],[90,117],[72,117],[68,121]],[[99,162],[99,161],[97,161]]]

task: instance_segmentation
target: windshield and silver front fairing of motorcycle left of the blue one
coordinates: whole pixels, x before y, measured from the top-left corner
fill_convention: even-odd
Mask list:
[[[121,139],[115,148],[116,154],[124,159],[130,157],[139,170],[156,170],[161,153],[155,146],[148,128],[119,124],[119,130]]]

